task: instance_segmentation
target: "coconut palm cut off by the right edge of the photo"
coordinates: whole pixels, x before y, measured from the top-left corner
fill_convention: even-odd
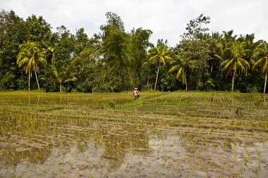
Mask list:
[[[267,84],[267,73],[268,73],[268,43],[265,42],[262,48],[257,48],[255,50],[258,61],[253,65],[253,69],[256,67],[262,68],[262,74],[264,74],[264,89],[263,93],[266,91]]]

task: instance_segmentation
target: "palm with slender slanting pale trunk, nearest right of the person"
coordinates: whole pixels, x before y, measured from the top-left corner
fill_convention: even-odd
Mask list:
[[[165,65],[166,61],[171,61],[172,58],[170,57],[171,51],[169,51],[168,47],[166,46],[166,42],[163,43],[163,40],[158,40],[157,46],[152,47],[149,50],[149,60],[148,63],[157,63],[157,78],[154,84],[154,91],[157,88],[157,80],[159,74],[160,65]]]

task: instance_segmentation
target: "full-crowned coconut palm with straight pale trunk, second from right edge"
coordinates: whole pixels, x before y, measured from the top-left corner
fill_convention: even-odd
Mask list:
[[[222,60],[221,70],[226,72],[226,77],[232,75],[232,89],[234,85],[234,79],[237,72],[246,73],[250,64],[245,59],[241,58],[242,53],[241,44],[237,42],[231,42],[223,51],[223,57],[215,55],[217,58]]]

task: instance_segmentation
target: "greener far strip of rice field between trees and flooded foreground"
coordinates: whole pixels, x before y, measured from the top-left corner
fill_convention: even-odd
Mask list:
[[[143,91],[138,101],[133,101],[131,92],[50,94],[13,91],[1,92],[0,96],[1,111],[8,115],[106,117],[176,126],[198,124],[198,127],[268,129],[267,96],[261,94]],[[257,125],[252,124],[256,121]],[[232,124],[234,122],[236,125]],[[243,124],[239,125],[240,122]]]

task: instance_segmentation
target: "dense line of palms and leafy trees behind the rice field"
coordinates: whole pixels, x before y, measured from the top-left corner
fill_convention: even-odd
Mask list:
[[[163,39],[154,46],[151,30],[126,32],[116,13],[105,15],[100,32],[88,37],[83,27],[51,32],[42,16],[23,20],[2,10],[0,89],[267,91],[268,44],[254,34],[209,32],[210,17],[201,14],[176,46]]]

